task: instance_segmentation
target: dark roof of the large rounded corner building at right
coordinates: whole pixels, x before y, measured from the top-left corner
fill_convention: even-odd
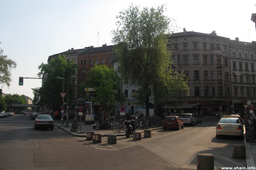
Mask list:
[[[208,33],[198,33],[198,32],[194,32],[194,31],[186,31],[186,32],[181,32],[181,33],[173,33],[171,35],[171,38],[196,37],[196,36],[197,37],[198,36],[203,36],[203,37],[219,38],[219,39],[229,40],[229,38],[218,36],[215,32],[212,32],[212,33],[208,34]]]

